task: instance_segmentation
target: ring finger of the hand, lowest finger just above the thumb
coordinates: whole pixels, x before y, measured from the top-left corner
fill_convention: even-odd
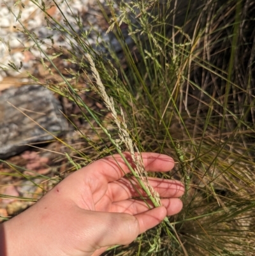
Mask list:
[[[166,215],[168,216],[176,215],[182,210],[180,199],[161,199],[161,204],[166,208]],[[154,208],[154,205],[149,200],[145,202],[144,200],[129,199],[113,203],[110,211],[138,215],[152,208]]]

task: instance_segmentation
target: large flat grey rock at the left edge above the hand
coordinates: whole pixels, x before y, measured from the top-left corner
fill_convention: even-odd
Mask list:
[[[0,95],[0,159],[22,153],[31,144],[52,140],[53,135],[67,131],[68,123],[60,110],[60,102],[43,86],[27,85],[3,91]]]

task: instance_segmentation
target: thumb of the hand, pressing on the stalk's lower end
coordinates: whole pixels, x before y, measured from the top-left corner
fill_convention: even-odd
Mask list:
[[[96,245],[108,247],[113,245],[128,245],[136,237],[159,224],[166,216],[166,208],[157,207],[139,215],[128,213],[97,213],[101,216],[97,225],[98,236]],[[99,217],[99,216],[98,216]],[[97,237],[97,238],[96,238]]]

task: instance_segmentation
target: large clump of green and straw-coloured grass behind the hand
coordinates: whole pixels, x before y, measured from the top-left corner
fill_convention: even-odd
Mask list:
[[[44,50],[45,39],[22,27],[50,75],[41,84],[91,124],[90,134],[75,125],[84,147],[97,158],[127,149],[170,154],[175,170],[154,175],[186,186],[170,226],[105,255],[254,255],[253,1],[98,1],[102,33],[84,30],[75,13],[61,23],[43,1],[31,2],[69,45]],[[69,2],[52,4],[61,12]],[[64,72],[57,61],[68,63]],[[84,95],[108,109],[92,110]],[[91,161],[90,151],[76,155]]]

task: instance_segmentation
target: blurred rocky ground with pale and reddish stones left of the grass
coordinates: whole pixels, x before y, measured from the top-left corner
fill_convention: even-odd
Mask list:
[[[104,42],[111,40],[115,49],[120,49],[117,40],[111,34],[105,34],[108,25],[96,0],[68,1],[69,7],[64,1],[56,2],[77,33],[79,28],[75,25],[74,15],[80,16],[85,30],[93,28],[88,40],[94,49],[102,41],[99,34]],[[52,1],[45,1],[45,7],[48,15],[63,22],[61,12]],[[71,154],[75,148],[93,154],[93,148],[84,146],[84,139],[75,132],[74,126],[85,134],[91,129],[79,117],[78,106],[31,79],[36,77],[42,83],[61,80],[41,64],[40,51],[24,33],[17,17],[27,30],[43,38],[41,48],[47,53],[52,54],[49,45],[56,51],[62,47],[68,53],[70,49],[61,34],[52,33],[45,15],[32,1],[0,0],[0,222],[29,207],[33,200],[38,200],[73,170],[66,153]],[[100,50],[104,50],[103,45]],[[56,64],[64,74],[65,68],[71,66],[64,57]],[[80,81],[77,86],[87,88]],[[92,110],[103,109],[90,92],[81,97]]]

